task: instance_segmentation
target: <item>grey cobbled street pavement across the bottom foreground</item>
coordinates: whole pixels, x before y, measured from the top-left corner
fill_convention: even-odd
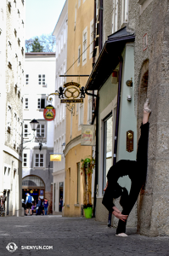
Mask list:
[[[1,217],[0,255],[169,256],[168,236],[139,236],[135,229],[127,235],[115,236],[94,218]]]

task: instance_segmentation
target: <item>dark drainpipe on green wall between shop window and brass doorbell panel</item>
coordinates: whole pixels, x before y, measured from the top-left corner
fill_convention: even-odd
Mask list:
[[[119,116],[120,116],[120,105],[121,105],[121,77],[122,77],[122,57],[119,56],[119,84],[117,90],[117,109],[116,109],[116,119],[115,119],[115,144],[114,144],[114,155],[113,155],[113,166],[116,163],[116,153],[117,153],[117,142],[118,142],[118,130],[119,130]],[[108,226],[111,226],[111,214],[108,215]]]

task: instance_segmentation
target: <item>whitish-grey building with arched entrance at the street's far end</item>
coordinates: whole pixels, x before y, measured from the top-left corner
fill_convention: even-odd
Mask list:
[[[47,96],[54,91],[55,53],[25,54],[24,125],[22,198],[29,192],[48,198],[48,211],[53,204],[54,120],[47,121],[43,110],[49,104]],[[32,119],[38,121],[37,131],[31,131]]]

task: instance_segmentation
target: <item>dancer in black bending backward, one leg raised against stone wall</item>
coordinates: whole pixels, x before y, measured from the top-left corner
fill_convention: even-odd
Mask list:
[[[142,188],[147,173],[147,151],[149,140],[149,99],[144,103],[144,119],[141,125],[141,137],[138,141],[137,160],[120,160],[115,166],[111,166],[107,174],[108,182],[104,189],[104,198],[102,203],[109,212],[112,212],[116,218],[119,218],[118,227],[115,236],[127,236],[126,225],[129,213],[138,199],[140,189]],[[126,188],[121,188],[117,183],[119,177],[128,175],[131,179],[131,189],[128,195]],[[121,196],[120,204],[122,212],[113,204],[113,198]]]

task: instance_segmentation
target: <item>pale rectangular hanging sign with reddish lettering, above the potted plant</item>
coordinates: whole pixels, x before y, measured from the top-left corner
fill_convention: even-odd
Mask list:
[[[82,125],[82,146],[95,146],[95,125]]]

